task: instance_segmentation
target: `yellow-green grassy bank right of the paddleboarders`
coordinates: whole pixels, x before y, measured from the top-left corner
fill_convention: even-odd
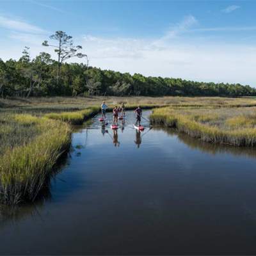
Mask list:
[[[206,142],[256,146],[256,108],[160,108],[150,121]]]

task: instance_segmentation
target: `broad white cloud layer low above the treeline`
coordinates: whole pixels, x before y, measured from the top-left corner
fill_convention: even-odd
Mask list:
[[[198,22],[190,16],[173,26],[160,38],[106,38],[86,35],[74,38],[76,44],[83,46],[88,54],[90,65],[120,72],[141,73],[145,76],[181,77],[195,81],[242,83],[256,86],[255,60],[256,47],[248,43],[230,44],[191,36],[189,40],[183,33],[193,30]],[[250,27],[252,29],[254,27]],[[222,28],[227,29],[227,28]],[[230,30],[237,28],[228,28]],[[246,30],[247,28],[244,28]],[[205,31],[221,31],[206,28]],[[42,35],[13,32],[12,42],[1,47],[0,56],[4,60],[19,58],[24,45],[31,46],[31,55],[40,51],[56,54],[50,47],[43,47]],[[47,38],[46,38],[47,39]],[[20,44],[22,42],[22,44]],[[30,42],[30,44],[29,44]],[[83,61],[72,59],[70,61]]]

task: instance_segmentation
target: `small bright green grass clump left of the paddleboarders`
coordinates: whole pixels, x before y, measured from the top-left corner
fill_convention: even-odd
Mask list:
[[[67,122],[68,124],[83,124],[84,120],[96,115],[99,110],[98,107],[91,107],[74,112],[48,113],[45,117]]]

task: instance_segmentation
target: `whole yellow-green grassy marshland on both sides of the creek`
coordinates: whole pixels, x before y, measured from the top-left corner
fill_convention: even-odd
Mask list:
[[[154,126],[174,127],[201,141],[254,147],[256,107],[253,98],[221,97],[56,97],[2,99],[1,202],[34,202],[44,191],[51,170],[71,144],[72,125],[100,111],[105,100],[126,109],[153,109]]]

